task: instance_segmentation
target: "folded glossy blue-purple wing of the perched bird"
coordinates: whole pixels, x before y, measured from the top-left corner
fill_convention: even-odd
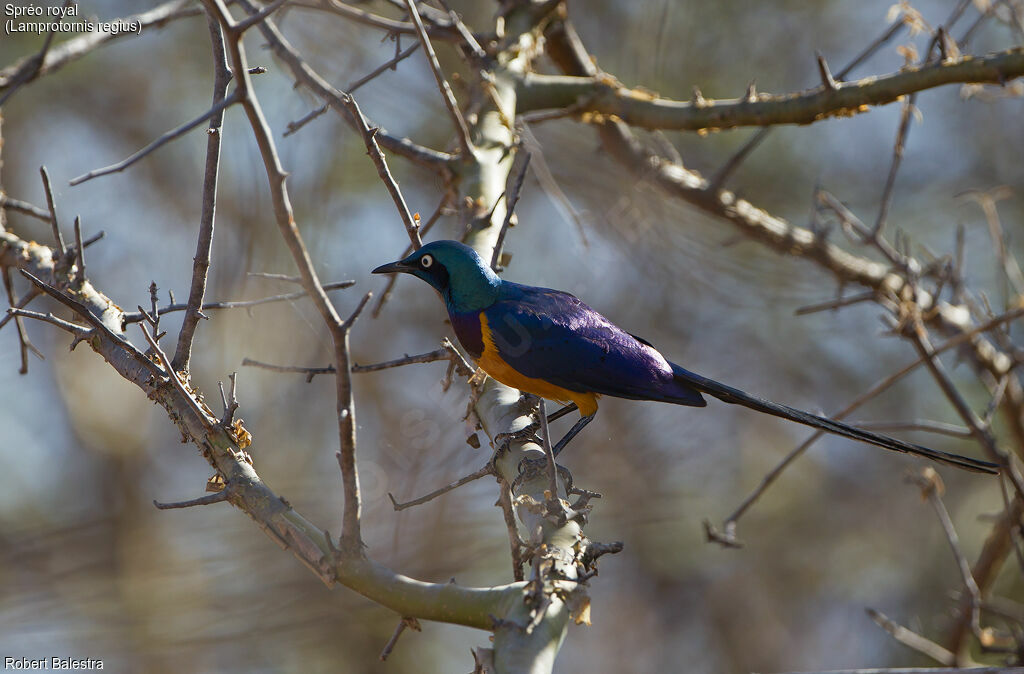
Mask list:
[[[484,310],[495,347],[520,374],[571,391],[703,407],[649,343],[573,295],[506,282]]]

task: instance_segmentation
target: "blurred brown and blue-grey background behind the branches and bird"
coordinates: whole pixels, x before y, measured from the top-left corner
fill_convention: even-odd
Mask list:
[[[16,0],[24,2],[24,0]],[[43,0],[45,3],[45,0]],[[496,5],[454,2],[479,31]],[[785,92],[818,82],[819,50],[834,71],[887,28],[891,0],[594,0],[569,3],[584,42],[605,71],[628,85],[688,98]],[[956,3],[916,1],[930,25]],[[982,3],[975,3],[982,4]],[[114,17],[154,0],[81,0],[83,16]],[[378,11],[388,8],[367,5]],[[952,31],[978,17],[971,7]],[[280,24],[310,65],[344,86],[394,52],[391,40],[339,16],[289,10]],[[72,36],[58,36],[57,42]],[[385,38],[385,39],[382,39]],[[905,32],[852,77],[889,73],[898,47],[927,48]],[[969,51],[1019,43],[998,22],[984,23]],[[42,37],[0,35],[0,67],[35,53]],[[411,44],[409,38],[403,45]],[[351,279],[333,294],[343,314],[361,293],[379,294],[374,266],[395,259],[408,239],[361,140],[335,115],[282,137],[290,121],[318,106],[293,88],[287,70],[248,35],[259,98],[291,172],[296,217],[326,281]],[[438,46],[449,72],[461,65]],[[554,72],[542,62],[542,71]],[[202,131],[163,148],[125,173],[69,187],[68,181],[127,157],[210,104],[212,68],[206,18],[151,28],[95,50],[19,90],[3,109],[2,186],[45,207],[39,166],[53,177],[68,226],[81,214],[93,284],[120,305],[148,306],[156,282],[187,297],[201,207],[206,138]],[[457,96],[460,95],[458,86]],[[398,135],[434,148],[451,126],[422,54],[357,94],[365,113]],[[1012,249],[1020,252],[1024,103],[962,99],[958,87],[919,98],[922,119],[908,138],[889,221],[914,252],[953,250],[966,227],[967,276],[1002,301],[984,216],[961,195],[1009,185],[998,204]],[[815,185],[872,222],[892,155],[899,107],[810,127],[776,129],[732,186],[797,224],[810,220]],[[570,120],[534,127],[558,184],[579,211],[527,178],[506,250],[506,278],[565,289],[669,357],[754,393],[812,411],[835,411],[914,360],[884,334],[869,303],[797,318],[827,300],[833,279],[809,262],[737,241],[727,223],[670,201],[599,149],[593,131]],[[714,173],[756,130],[669,133],[684,163]],[[210,299],[251,299],[292,290],[247,276],[294,273],[273,222],[266,176],[241,110],[228,112]],[[433,212],[442,184],[392,159],[411,208]],[[48,225],[8,213],[8,227],[49,242]],[[430,238],[457,238],[444,217]],[[837,241],[856,248],[837,235]],[[855,252],[870,256],[869,251]],[[18,282],[18,290],[24,285]],[[40,305],[41,306],[41,305]],[[33,305],[32,308],[36,308]],[[52,308],[52,307],[50,307]],[[45,309],[44,309],[45,310]],[[451,334],[424,284],[400,280],[379,318],[352,334],[359,364],[433,350]],[[178,321],[164,319],[176,335]],[[486,634],[425,623],[378,656],[397,617],[344,588],[326,589],[239,511],[217,505],[160,512],[152,501],[202,494],[210,468],[180,438],[163,410],[121,380],[88,348],[29,324],[45,362],[19,376],[16,334],[0,332],[0,656],[100,658],[124,672],[460,672]],[[140,343],[137,329],[130,336]],[[308,301],[219,311],[200,325],[193,377],[208,399],[239,374],[240,415],[255,441],[261,476],[305,516],[340,530],[341,480],[335,462],[334,384],[318,377],[242,368],[244,357],[298,366],[330,362],[330,340]],[[949,366],[954,359],[946,359]],[[496,585],[511,580],[497,487],[479,480],[427,505],[396,513],[406,500],[475,470],[486,445],[470,448],[461,420],[467,387],[443,392],[444,364],[355,376],[364,532],[369,552],[425,581]],[[953,374],[978,410],[987,394],[970,368]],[[569,630],[556,671],[791,671],[924,665],[865,615],[873,607],[941,639],[959,590],[942,530],[916,489],[904,483],[920,462],[839,438],[820,440],[740,521],[745,547],[705,542],[701,521],[720,522],[807,430],[721,404],[692,410],[607,399],[564,455],[578,483],[600,492],[588,534],[622,540],[592,583],[593,625]],[[924,370],[863,408],[857,420],[958,422]],[[560,422],[566,423],[566,422]],[[560,427],[559,427],[560,429]],[[967,440],[905,434],[937,449],[979,455]],[[939,468],[947,506],[968,558],[987,532],[979,517],[1001,508],[997,485]],[[1024,599],[1011,560],[996,592]]]

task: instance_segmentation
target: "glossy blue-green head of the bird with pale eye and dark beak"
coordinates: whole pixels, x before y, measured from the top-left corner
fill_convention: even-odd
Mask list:
[[[476,251],[458,241],[431,242],[403,260],[374,269],[374,273],[395,271],[423,279],[441,294],[449,309],[459,312],[490,306],[502,285]]]

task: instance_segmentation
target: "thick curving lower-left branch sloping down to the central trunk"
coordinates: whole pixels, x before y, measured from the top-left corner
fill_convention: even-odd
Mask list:
[[[325,584],[340,582],[402,616],[482,630],[492,629],[493,617],[505,614],[507,606],[522,596],[521,583],[481,589],[454,583],[423,583],[365,556],[335,558],[324,532],[262,481],[227,429],[211,423],[210,416],[195,398],[199,391],[183,393],[183,387],[175,386],[166,372],[123,336],[121,310],[117,305],[89,282],[70,283],[71,271],[54,269],[53,258],[54,251],[49,247],[0,233],[0,267],[31,269],[35,272],[34,283],[48,288],[80,318],[98,328],[86,343],[121,377],[167,411],[182,436],[194,443],[231,486],[228,501],[249,514],[267,536],[291,551]],[[68,288],[68,294],[57,292],[40,278]],[[183,399],[186,393],[194,399]]]

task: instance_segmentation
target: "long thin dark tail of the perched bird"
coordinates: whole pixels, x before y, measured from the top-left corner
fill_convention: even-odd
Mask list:
[[[757,410],[758,412],[770,414],[775,417],[796,421],[798,424],[818,428],[829,433],[867,443],[868,445],[877,445],[878,447],[882,447],[887,450],[915,454],[933,461],[938,461],[939,463],[946,463],[951,466],[956,466],[957,468],[964,468],[965,470],[991,473],[993,475],[998,474],[999,472],[999,466],[994,463],[989,463],[988,461],[980,461],[978,459],[959,456],[958,454],[948,454],[946,452],[939,452],[938,450],[930,450],[927,447],[904,443],[903,440],[896,439],[895,437],[889,437],[888,435],[883,435],[881,433],[873,433],[869,430],[864,430],[863,428],[848,426],[847,424],[833,419],[819,417],[807,412],[801,412],[800,410],[785,405],[779,405],[778,403],[772,403],[771,401],[755,397],[754,395],[744,393],[737,388],[726,386],[725,384],[719,383],[714,379],[708,379],[707,377],[702,377],[694,372],[690,372],[689,370],[684,370],[675,364],[672,364],[672,370],[675,373],[677,380],[686,383],[701,393],[713,395],[724,403],[741,405],[744,408],[750,408],[751,410]]]

